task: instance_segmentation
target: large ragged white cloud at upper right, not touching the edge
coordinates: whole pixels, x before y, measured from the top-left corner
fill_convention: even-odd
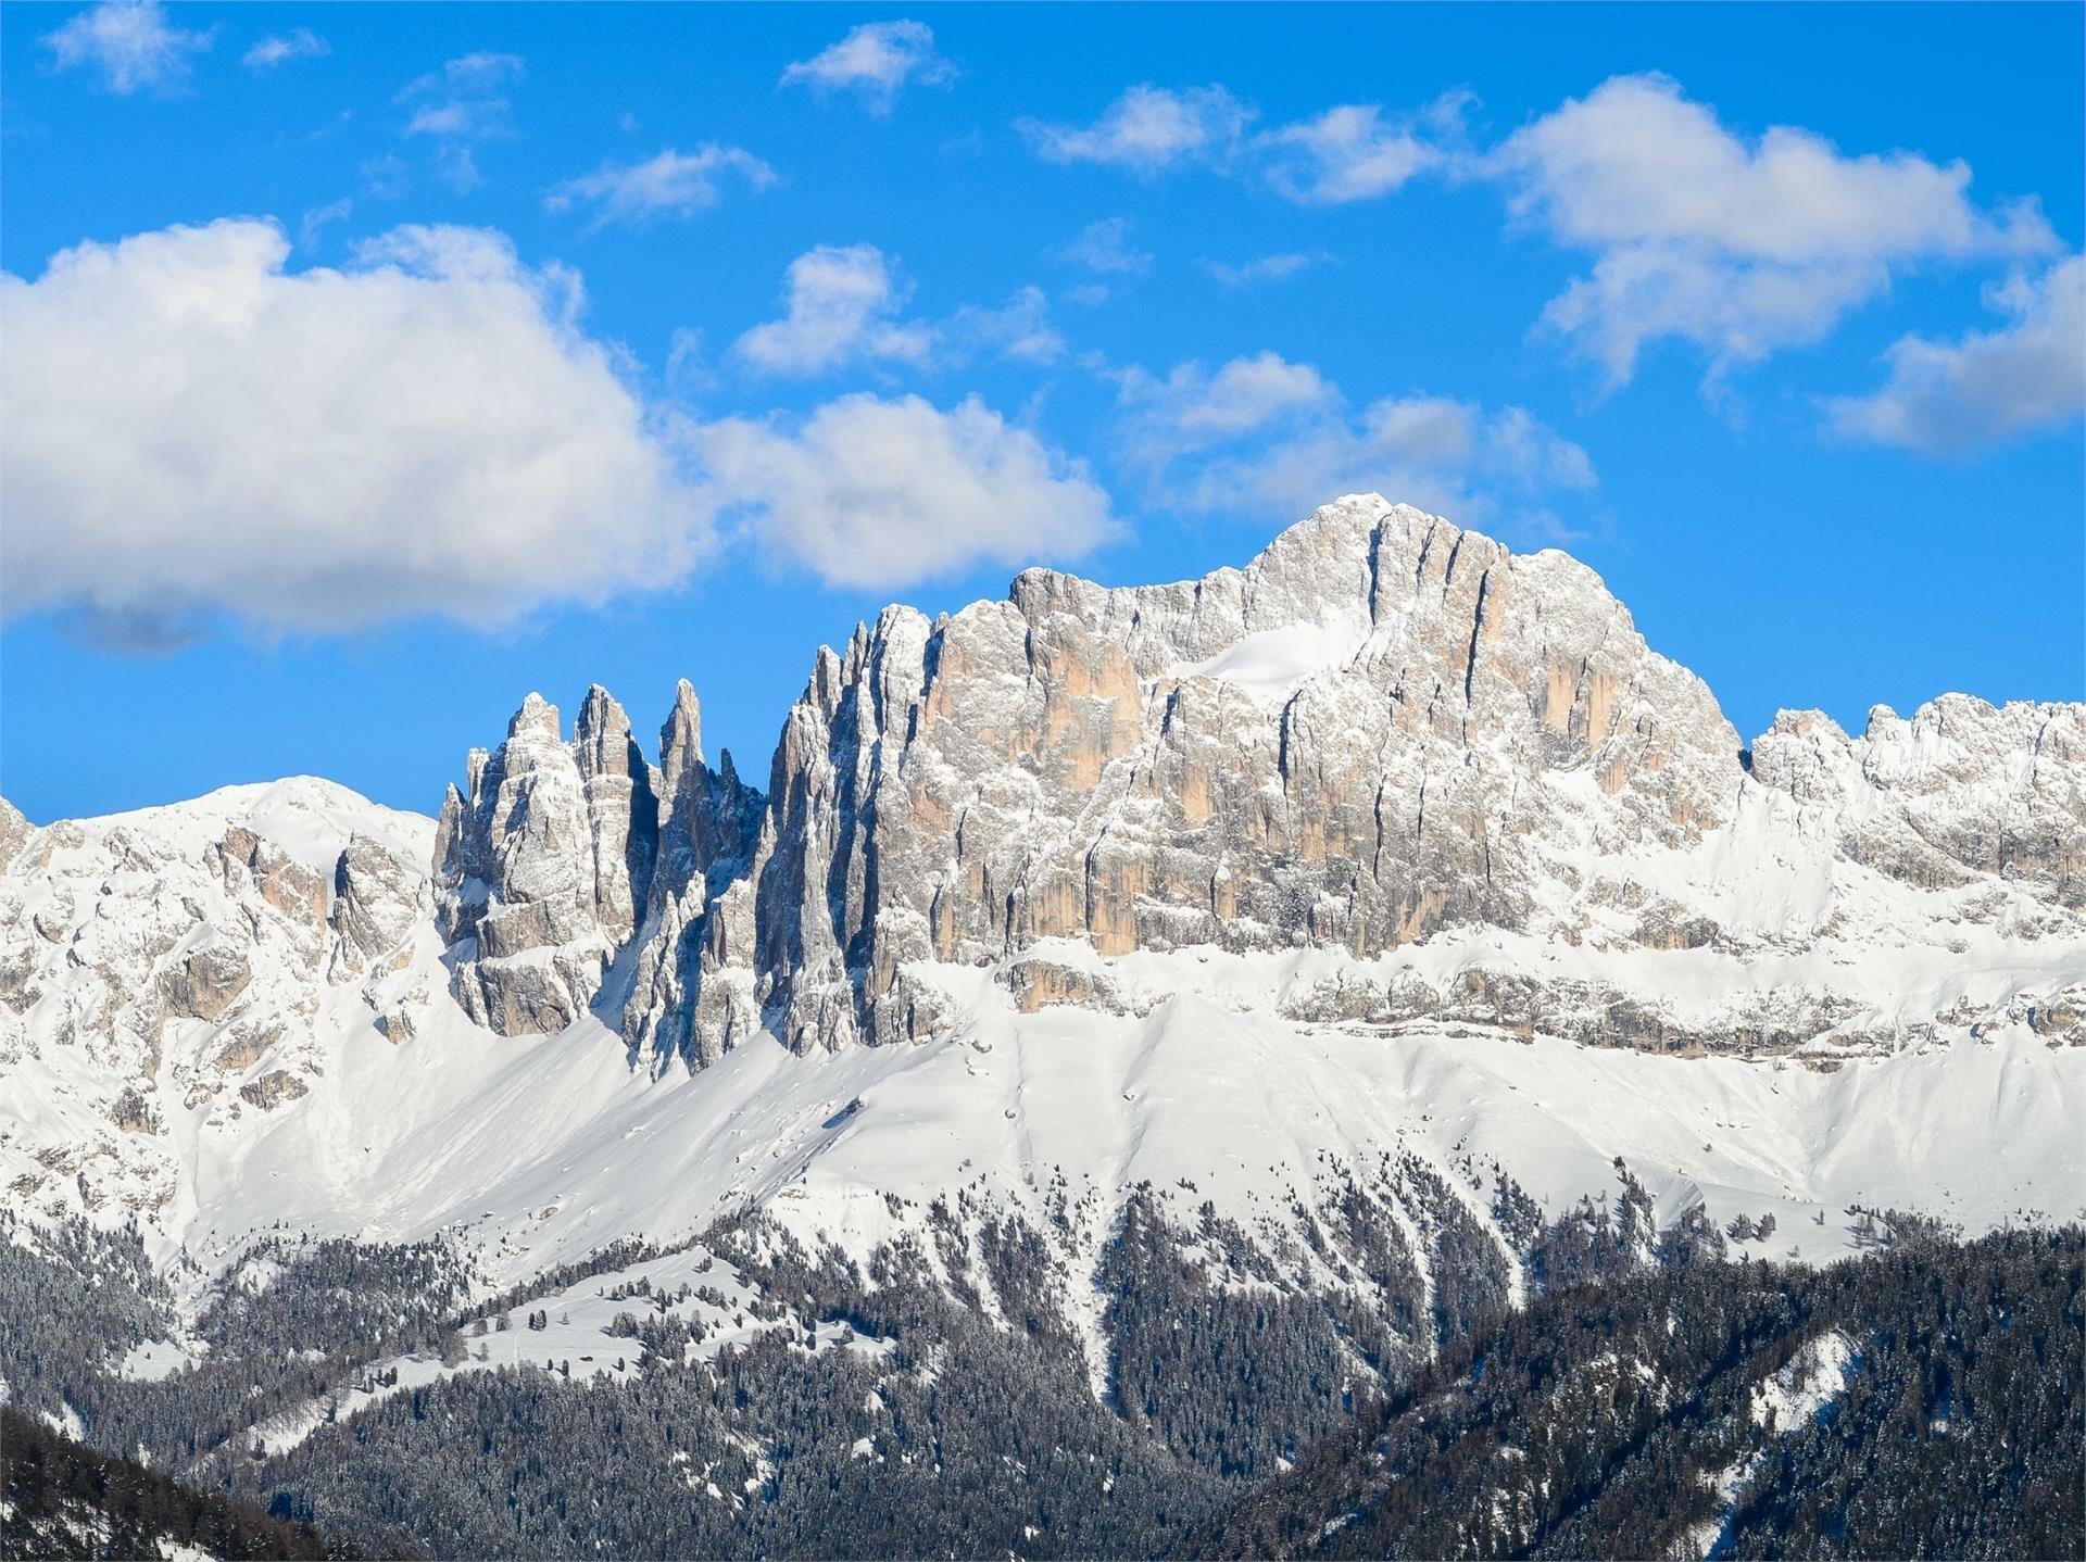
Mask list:
[[[1556,242],[1594,252],[1544,323],[1627,382],[1658,338],[1694,342],[1715,380],[1825,336],[1925,259],[2042,254],[2032,204],[1982,211],[1969,167],[1846,156],[1775,127],[1748,142],[1660,75],[1615,77],[1510,136],[1487,173]]]

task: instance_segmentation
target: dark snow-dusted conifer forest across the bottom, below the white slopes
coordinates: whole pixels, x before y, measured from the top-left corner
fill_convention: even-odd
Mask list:
[[[755,1324],[724,1349],[695,1351],[672,1297],[630,1285],[601,1341],[626,1372],[440,1372],[353,1410],[344,1387],[390,1389],[373,1362],[469,1362],[467,1276],[440,1245],[280,1243],[265,1291],[204,1310],[213,1349],[134,1381],[111,1351],[165,1308],[134,1239],[8,1241],[0,1295],[48,1305],[17,1308],[0,1345],[6,1547],[2086,1552],[2078,1228],[1965,1243],[1882,1216],[1871,1251],[1813,1270],[1733,1260],[1711,1226],[1656,1232],[1621,1168],[1619,1197],[1550,1224],[1517,1222],[1521,1197],[1502,1182],[1494,1205],[1535,1280],[1512,1305],[1498,1247],[1454,1199],[1418,1241],[1364,1187],[1335,1199],[1327,1255],[1354,1285],[1333,1295],[1212,1210],[1183,1222],[1139,1191],[1095,1276],[1101,1360],[1058,1249],[1018,1216],[960,1243],[957,1212],[937,1210],[939,1268],[920,1243],[857,1266],[738,1218],[705,1232]],[[651,1255],[567,1266],[499,1297],[492,1326],[549,1328],[540,1297]],[[284,1414],[309,1426],[271,1445]]]

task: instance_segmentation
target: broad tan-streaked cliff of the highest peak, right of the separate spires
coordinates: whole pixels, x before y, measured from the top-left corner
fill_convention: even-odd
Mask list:
[[[1592,571],[1348,498],[1243,571],[1033,569],[822,653],[755,859],[759,993],[793,1045],[887,1041],[935,1022],[912,959],[1560,926],[1575,853],[1688,845],[1742,778]]]

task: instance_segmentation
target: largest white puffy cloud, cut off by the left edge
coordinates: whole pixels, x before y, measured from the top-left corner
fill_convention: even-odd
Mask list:
[[[705,511],[576,277],[403,227],[286,271],[269,221],[79,244],[0,275],[0,603],[148,644],[496,624],[684,573]]]

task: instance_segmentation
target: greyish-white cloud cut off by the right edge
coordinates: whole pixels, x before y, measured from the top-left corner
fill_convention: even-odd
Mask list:
[[[1890,377],[1871,396],[1827,402],[1832,428],[1850,440],[1913,450],[1967,450],[2086,417],[2086,257],[2071,254],[2042,277],[1988,290],[2013,317],[1961,342],[1907,336],[1888,352]]]

